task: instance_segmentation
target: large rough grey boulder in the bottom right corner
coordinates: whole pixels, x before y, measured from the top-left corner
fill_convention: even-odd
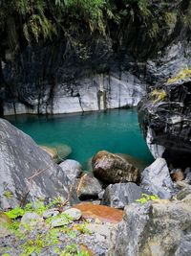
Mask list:
[[[185,198],[186,199],[186,198]],[[191,198],[125,207],[112,234],[109,256],[190,256]]]

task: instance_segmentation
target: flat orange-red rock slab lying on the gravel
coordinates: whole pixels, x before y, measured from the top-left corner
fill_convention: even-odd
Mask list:
[[[122,221],[123,211],[112,207],[92,203],[75,204],[73,207],[82,212],[82,218],[84,219],[98,219],[99,221],[111,223]]]

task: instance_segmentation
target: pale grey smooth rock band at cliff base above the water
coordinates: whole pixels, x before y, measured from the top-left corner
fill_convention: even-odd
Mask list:
[[[96,75],[90,71],[71,81],[63,78],[56,84],[49,82],[43,81],[45,84],[40,88],[39,84],[25,85],[25,88],[18,85],[14,96],[17,100],[6,99],[4,115],[60,114],[135,106],[145,94],[146,87],[129,72]]]

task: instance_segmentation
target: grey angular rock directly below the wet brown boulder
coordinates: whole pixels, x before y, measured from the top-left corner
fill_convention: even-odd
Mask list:
[[[111,184],[106,188],[101,204],[123,209],[127,204],[141,198],[141,194],[141,188],[135,183]]]

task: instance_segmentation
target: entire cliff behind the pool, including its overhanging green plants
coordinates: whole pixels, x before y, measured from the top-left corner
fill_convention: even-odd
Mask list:
[[[138,105],[191,63],[189,10],[187,0],[1,1],[0,115]]]

